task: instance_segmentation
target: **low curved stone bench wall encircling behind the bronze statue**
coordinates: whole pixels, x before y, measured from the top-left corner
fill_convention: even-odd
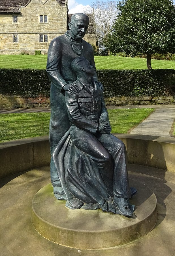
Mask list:
[[[137,134],[114,134],[127,148],[129,163],[175,171],[175,139]],[[0,144],[0,178],[50,164],[48,136]]]

